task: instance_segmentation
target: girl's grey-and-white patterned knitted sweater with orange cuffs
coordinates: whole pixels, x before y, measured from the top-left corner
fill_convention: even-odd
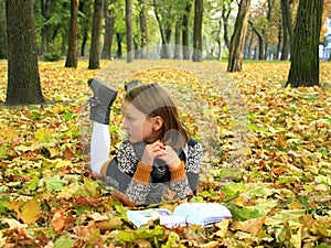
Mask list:
[[[197,187],[202,147],[191,139],[177,151],[181,165],[170,171],[162,160],[153,166],[140,162],[146,143],[121,143],[117,157],[104,165],[105,185],[136,205],[158,204],[164,198],[184,198]]]

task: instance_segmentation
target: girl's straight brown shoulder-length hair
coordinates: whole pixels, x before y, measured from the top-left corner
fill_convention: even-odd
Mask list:
[[[132,88],[124,99],[146,114],[148,117],[160,116],[163,119],[163,127],[159,139],[179,149],[190,139],[190,133],[180,121],[174,101],[169,91],[158,84],[145,84]]]

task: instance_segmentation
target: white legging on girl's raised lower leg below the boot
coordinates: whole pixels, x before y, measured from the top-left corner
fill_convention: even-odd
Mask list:
[[[94,121],[90,140],[90,170],[99,174],[103,164],[109,159],[109,126]]]

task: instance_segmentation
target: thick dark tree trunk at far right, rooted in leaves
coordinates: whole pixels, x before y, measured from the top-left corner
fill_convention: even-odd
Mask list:
[[[300,0],[287,85],[319,86],[319,41],[323,0]]]

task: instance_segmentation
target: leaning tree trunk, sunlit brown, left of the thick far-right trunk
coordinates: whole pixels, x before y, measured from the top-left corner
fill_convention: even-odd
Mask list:
[[[234,33],[231,36],[231,47],[227,72],[242,72],[243,47],[250,11],[250,0],[242,0],[236,18]]]

